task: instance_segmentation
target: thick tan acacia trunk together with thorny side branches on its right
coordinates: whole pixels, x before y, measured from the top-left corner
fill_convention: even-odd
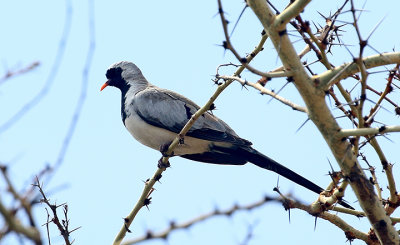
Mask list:
[[[379,242],[383,244],[398,244],[399,236],[390,219],[390,214],[393,212],[393,209],[398,206],[398,196],[392,172],[393,165],[386,159],[376,136],[384,134],[388,132],[388,130],[398,131],[399,127],[384,125],[372,128],[371,123],[373,122],[375,111],[379,107],[379,104],[386,98],[388,92],[391,91],[390,88],[392,87],[391,83],[393,79],[391,77],[398,77],[400,54],[389,53],[363,57],[363,50],[367,46],[368,40],[362,39],[362,35],[358,29],[356,8],[353,1],[351,1],[350,12],[354,17],[353,25],[357,30],[359,38],[359,53],[352,61],[335,67],[326,56],[327,47],[329,47],[329,37],[317,39],[312,34],[309,25],[305,22],[301,22],[300,17],[296,18],[296,16],[298,16],[307,6],[308,2],[309,1],[296,1],[278,15],[276,15],[271,7],[264,1],[249,1],[249,6],[259,18],[268,37],[271,39],[278,51],[278,55],[284,66],[283,70],[287,73],[285,75],[292,79],[301,94],[304,103],[306,104],[306,112],[310,120],[317,126],[320,133],[325,138],[341,168],[341,175],[343,178],[342,186],[337,188],[337,192],[335,190],[334,195],[343,192],[347,184],[350,184],[358,198],[365,216],[368,217],[368,220],[371,223],[372,230],[369,236],[361,236],[361,234],[360,236],[357,236],[357,233],[355,232],[352,232],[352,235],[356,238],[373,242],[374,236],[372,236],[371,233],[374,233]],[[318,74],[308,73],[304,64],[298,58],[297,53],[286,34],[287,25],[294,17],[298,21],[300,32],[305,32],[309,35],[308,37],[305,37],[305,40],[307,38],[309,39],[309,44],[307,45],[310,48],[313,45],[315,46],[313,50],[316,51],[319,61],[326,67],[325,72]],[[328,32],[335,31],[336,28],[334,24],[334,21],[328,23]],[[382,99],[376,103],[376,106],[374,107],[376,109],[365,113],[364,105],[367,99],[369,69],[389,64],[397,65],[394,70],[389,71],[387,84],[388,89],[386,93],[381,93]],[[342,83],[344,83],[342,80],[348,77],[354,77],[360,84],[361,93],[359,98],[355,101],[351,99],[354,96],[351,96],[350,92],[346,91],[342,86]],[[337,103],[340,103],[339,105],[347,104],[348,107],[350,107],[350,110],[347,112],[345,111],[344,113],[353,121],[357,129],[342,129],[332,115],[325,101],[325,96],[334,97],[336,92],[333,88],[337,88],[338,92],[346,100],[345,102],[338,100]],[[398,110],[397,105],[395,110]],[[361,157],[359,154],[362,140],[361,137],[367,139],[367,143],[371,144],[376,150],[376,153],[379,155],[383,164],[383,169],[388,177],[390,196],[385,201],[375,193],[374,182],[371,182],[367,178],[358,162],[359,157]],[[378,187],[378,192],[380,190],[379,188],[380,187]],[[350,229],[346,229],[345,231],[349,232]]]

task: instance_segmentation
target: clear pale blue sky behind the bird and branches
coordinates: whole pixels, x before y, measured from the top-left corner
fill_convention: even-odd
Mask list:
[[[52,165],[57,161],[81,93],[82,71],[90,41],[89,5],[87,1],[71,1],[70,4],[72,18],[65,51],[48,93],[20,120],[0,133],[0,161],[10,166],[10,176],[19,189],[28,186],[46,164]],[[243,7],[242,1],[225,1],[224,5],[227,18],[234,22]],[[322,6],[321,2],[313,2],[304,17],[323,24],[316,11],[328,15],[329,10],[335,11],[338,5]],[[399,47],[399,33],[394,31],[399,22],[396,14],[399,3],[392,0],[379,5],[370,1],[365,8],[370,10],[360,19],[365,37],[386,15],[370,39],[373,47],[381,52]],[[108,66],[120,60],[132,61],[151,83],[182,93],[203,105],[216,89],[211,81],[216,67],[237,63],[219,46],[223,33],[216,13],[216,1],[190,4],[187,1],[95,2],[95,51],[86,100],[61,167],[49,183],[44,183],[52,201],[68,203],[71,226],[82,226],[73,233],[75,244],[110,244],[113,241],[122,225],[122,217],[135,204],[143,180],[154,173],[160,158],[160,153],[140,145],[123,127],[119,91],[108,88],[99,92]],[[39,61],[40,66],[1,84],[0,125],[34,98],[48,81],[65,16],[64,1],[7,1],[2,4],[0,74],[34,61]],[[248,9],[232,39],[241,54],[255,47],[261,30],[261,25]],[[357,44],[352,28],[348,26],[346,30],[347,41]],[[293,37],[293,40],[297,39]],[[302,45],[298,47],[301,49]],[[356,48],[350,47],[351,50]],[[366,54],[374,54],[374,51],[367,49]],[[332,58],[335,64],[352,59],[346,51],[338,50],[335,55]],[[259,69],[267,71],[280,64],[270,43],[254,62]],[[221,74],[230,75],[232,72],[232,69],[224,69]],[[251,81],[258,79],[248,72],[243,73],[243,77]],[[278,90],[284,83],[284,80],[276,79],[267,86]],[[287,86],[281,95],[302,104],[292,85]],[[327,159],[334,160],[317,129],[307,123],[296,133],[306,115],[269,100],[251,88],[247,90],[239,84],[232,84],[216,101],[214,113],[241,137],[252,141],[260,152],[322,187],[327,186],[330,181]],[[382,114],[384,120],[399,124],[393,114]],[[380,142],[388,152],[400,140],[396,134],[390,138],[394,143]],[[398,156],[392,157],[391,161],[398,161]],[[371,158],[376,160],[374,155]],[[278,176],[255,166],[217,166],[180,158],[173,158],[171,164],[172,168],[165,172],[162,184],[155,186],[150,209],[141,210],[133,222],[130,238],[143,235],[147,229],[162,230],[171,220],[183,222],[216,207],[225,209],[235,203],[252,203],[264,195],[276,196],[272,189]],[[379,169],[379,164],[377,166]],[[337,165],[335,168],[338,169]],[[283,193],[292,193],[305,202],[317,198],[286,179],[279,178],[279,185]],[[346,199],[356,201],[351,193]],[[36,207],[35,217],[39,223],[45,223],[43,206]],[[368,229],[363,219],[350,218],[349,222],[362,227],[363,231]],[[254,237],[248,244],[303,244],[320,242],[321,239],[324,244],[346,242],[343,232],[328,222],[318,220],[314,231],[313,217],[292,210],[289,223],[287,212],[279,204],[267,204],[253,211],[238,212],[231,218],[217,217],[188,230],[176,231],[169,243],[239,244],[245,239],[249,225],[254,225]],[[52,231],[52,239],[54,244],[62,244],[56,230]]]

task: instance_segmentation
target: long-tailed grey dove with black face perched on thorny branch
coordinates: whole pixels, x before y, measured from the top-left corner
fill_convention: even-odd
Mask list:
[[[100,91],[108,86],[121,91],[123,124],[137,141],[155,150],[168,146],[200,109],[185,96],[149,83],[141,70],[129,61],[112,64],[106,72],[106,78],[107,81]],[[320,186],[254,149],[250,141],[239,137],[227,123],[210,111],[195,121],[173,154],[212,164],[252,163],[317,194],[324,191]],[[339,203],[351,208],[344,201],[339,200]]]

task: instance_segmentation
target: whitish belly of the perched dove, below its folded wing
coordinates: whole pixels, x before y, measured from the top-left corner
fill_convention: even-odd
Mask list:
[[[137,114],[131,114],[125,119],[125,127],[137,141],[157,151],[161,145],[171,143],[177,136],[174,132],[147,124]],[[186,136],[184,144],[178,145],[174,154],[179,156],[208,150],[209,141]]]

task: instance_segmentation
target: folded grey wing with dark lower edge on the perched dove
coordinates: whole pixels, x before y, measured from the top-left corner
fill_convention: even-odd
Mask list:
[[[133,108],[147,123],[179,133],[200,107],[175,92],[149,87],[135,95]],[[251,145],[251,142],[240,138],[225,122],[209,112],[196,120],[187,136],[236,145]]]

